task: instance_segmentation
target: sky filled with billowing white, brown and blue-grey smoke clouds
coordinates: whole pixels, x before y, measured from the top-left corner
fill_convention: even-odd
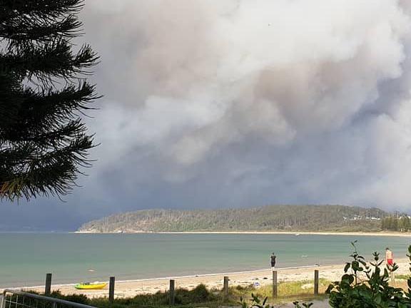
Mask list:
[[[411,212],[411,1],[87,0],[96,160],[0,230],[148,208]]]

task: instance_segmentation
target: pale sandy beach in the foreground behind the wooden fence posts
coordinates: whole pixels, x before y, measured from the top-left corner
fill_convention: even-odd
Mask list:
[[[397,274],[409,274],[408,260],[397,260],[399,270]],[[343,274],[343,264],[326,265],[318,267],[299,267],[278,269],[279,282],[293,282],[293,281],[313,281],[314,270],[319,270],[320,279],[328,279],[330,281],[338,280]],[[134,297],[137,294],[153,294],[158,291],[167,291],[169,286],[169,279],[176,280],[176,287],[193,289],[198,284],[205,284],[210,289],[223,288],[223,277],[228,276],[230,279],[230,286],[248,286],[258,282],[260,285],[267,285],[272,283],[272,272],[267,270],[257,270],[250,272],[231,272],[220,274],[203,274],[186,277],[166,277],[158,279],[139,279],[116,282],[115,296],[117,298]],[[35,290],[44,292],[44,287],[28,287],[25,290]],[[106,297],[108,296],[108,287],[101,290],[77,290],[74,289],[73,284],[60,284],[52,286],[52,290],[60,290],[62,294],[85,294],[87,297]]]

